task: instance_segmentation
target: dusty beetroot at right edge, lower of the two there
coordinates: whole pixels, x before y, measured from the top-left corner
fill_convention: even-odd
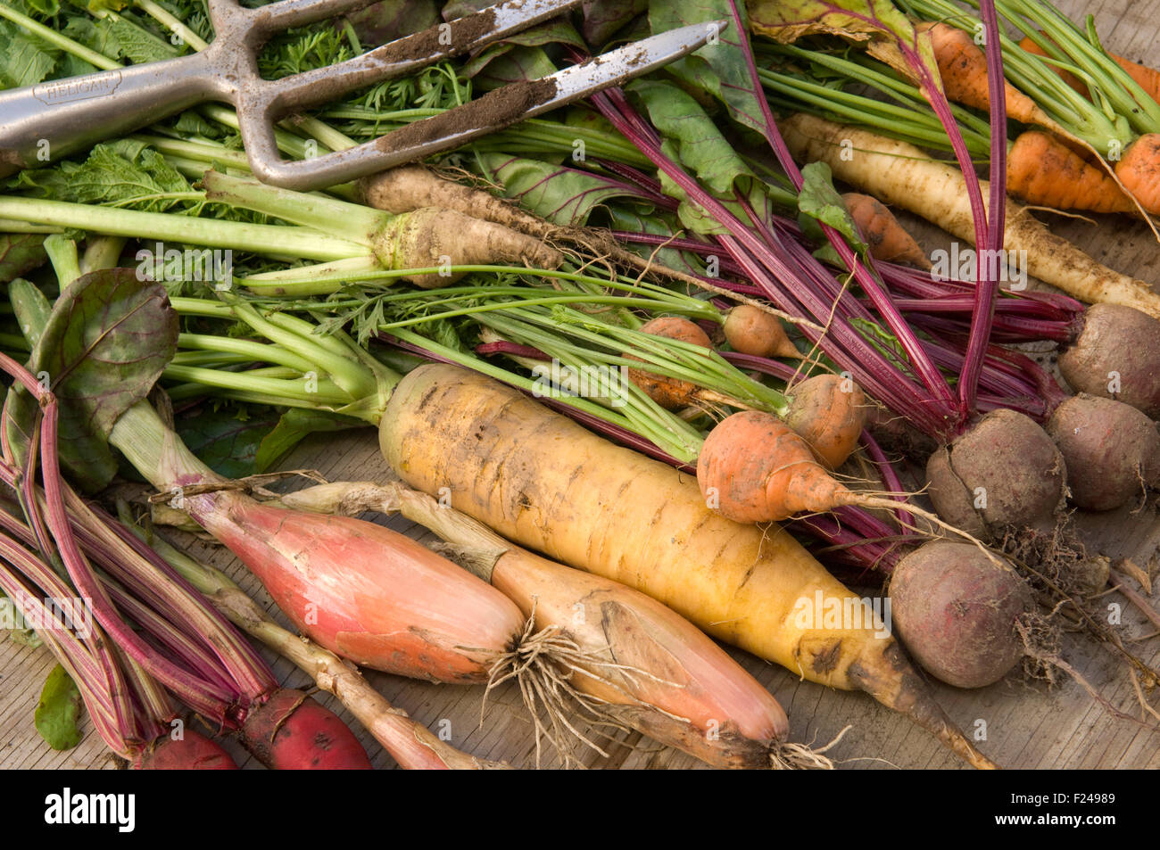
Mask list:
[[[1067,487],[1081,508],[1118,508],[1160,477],[1160,433],[1129,405],[1081,393],[1056,408],[1047,434],[1064,456]]]

